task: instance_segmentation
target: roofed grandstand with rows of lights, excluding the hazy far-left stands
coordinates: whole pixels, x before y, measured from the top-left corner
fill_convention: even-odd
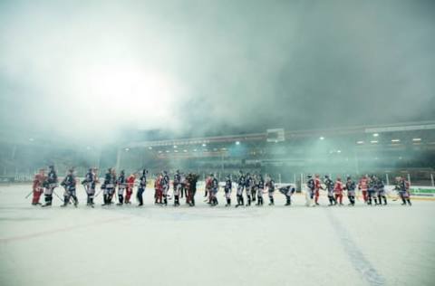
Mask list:
[[[435,121],[341,129],[284,130],[205,138],[144,140],[118,150],[117,168],[182,169],[206,176],[261,172],[278,182],[308,173],[410,176],[433,185]],[[302,176],[304,177],[304,176]]]

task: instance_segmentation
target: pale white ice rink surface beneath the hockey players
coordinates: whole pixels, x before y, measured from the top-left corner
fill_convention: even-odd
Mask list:
[[[30,205],[0,186],[0,285],[435,285],[435,202],[387,206]],[[62,195],[60,188],[57,194]],[[324,194],[322,194],[324,195]],[[134,200],[133,200],[134,201]],[[172,201],[170,201],[172,203]],[[233,199],[233,204],[235,199]]]

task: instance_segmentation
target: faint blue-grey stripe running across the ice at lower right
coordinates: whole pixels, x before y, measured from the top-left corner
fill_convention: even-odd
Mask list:
[[[372,263],[365,258],[346,228],[332,215],[327,212],[328,218],[343,243],[345,253],[349,256],[353,268],[362,274],[362,277],[372,286],[385,285],[385,279],[376,271]]]

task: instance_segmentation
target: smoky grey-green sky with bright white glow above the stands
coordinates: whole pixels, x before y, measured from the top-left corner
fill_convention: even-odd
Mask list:
[[[435,119],[434,1],[0,0],[0,128],[69,140]]]

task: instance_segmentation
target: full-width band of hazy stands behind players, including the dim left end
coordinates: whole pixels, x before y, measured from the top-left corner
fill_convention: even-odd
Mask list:
[[[140,131],[136,131],[140,134]],[[304,175],[409,176],[420,186],[433,186],[435,121],[340,129],[284,130],[203,138],[143,139],[136,135],[120,145],[74,146],[47,138],[2,140],[3,181],[30,180],[37,169],[55,164],[61,176],[75,167],[116,167],[134,172],[146,167],[217,174],[221,179],[239,170],[261,172],[277,182],[304,181]]]

